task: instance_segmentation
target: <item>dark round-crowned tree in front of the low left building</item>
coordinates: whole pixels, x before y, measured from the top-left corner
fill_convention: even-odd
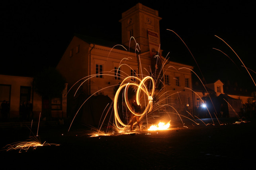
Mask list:
[[[60,97],[65,89],[65,79],[55,68],[45,68],[34,77],[33,87],[43,100],[42,117],[51,119],[51,99]]]

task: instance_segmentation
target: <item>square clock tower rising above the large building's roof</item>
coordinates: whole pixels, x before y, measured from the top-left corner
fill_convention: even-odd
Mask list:
[[[158,17],[157,10],[153,10],[141,3],[123,12],[122,19],[119,21],[122,24],[122,44],[135,50],[135,48],[138,48],[136,46],[136,43],[138,43],[140,52],[147,52],[150,49],[149,32],[150,35],[157,36],[157,42],[159,41],[160,44],[159,21],[161,19],[161,17]],[[131,37],[135,38],[136,43]],[[159,44],[157,45],[159,46]]]

